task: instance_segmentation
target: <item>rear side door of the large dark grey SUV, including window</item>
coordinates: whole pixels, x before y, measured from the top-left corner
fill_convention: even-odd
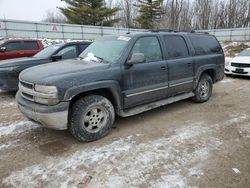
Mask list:
[[[190,56],[183,36],[165,35],[167,63],[169,70],[169,96],[192,91],[194,70],[193,58]]]

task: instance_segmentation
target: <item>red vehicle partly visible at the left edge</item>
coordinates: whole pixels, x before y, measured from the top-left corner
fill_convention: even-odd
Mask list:
[[[44,48],[42,41],[33,39],[7,39],[0,41],[0,60],[31,57]]]

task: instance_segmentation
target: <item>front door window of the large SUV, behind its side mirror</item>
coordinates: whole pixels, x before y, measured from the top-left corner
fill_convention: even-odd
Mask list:
[[[138,39],[132,49],[132,54],[133,53],[143,53],[146,62],[162,60],[161,47],[156,37],[143,37]]]

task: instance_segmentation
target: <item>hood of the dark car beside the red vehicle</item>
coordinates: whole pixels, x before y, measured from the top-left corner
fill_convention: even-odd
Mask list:
[[[0,61],[0,68],[15,67],[15,66],[19,66],[19,65],[26,64],[26,63],[31,63],[33,61],[39,61],[39,60],[43,60],[43,59],[36,58],[36,57],[23,57],[23,58],[2,60]]]

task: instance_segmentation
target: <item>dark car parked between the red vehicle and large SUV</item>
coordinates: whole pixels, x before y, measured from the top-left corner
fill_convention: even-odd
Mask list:
[[[3,60],[0,63],[0,89],[18,90],[18,76],[29,67],[51,63],[63,59],[72,59],[84,51],[90,42],[69,42],[51,45],[33,57]]]

